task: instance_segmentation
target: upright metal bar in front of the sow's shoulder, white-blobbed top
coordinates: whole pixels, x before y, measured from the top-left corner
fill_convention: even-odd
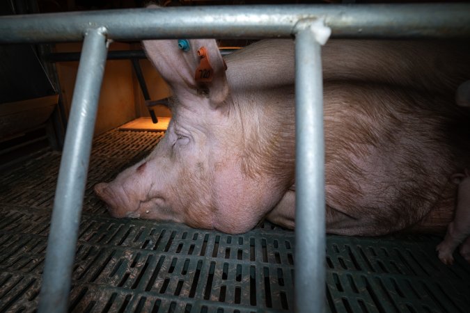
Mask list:
[[[312,22],[300,21],[295,35],[295,312],[325,310],[323,82]]]

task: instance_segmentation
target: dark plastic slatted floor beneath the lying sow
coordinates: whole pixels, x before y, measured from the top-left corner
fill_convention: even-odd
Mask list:
[[[93,185],[160,136],[113,130],[95,139],[70,312],[292,312],[293,232],[265,223],[234,236],[107,214]],[[59,161],[50,152],[0,177],[0,313],[38,306]],[[470,265],[458,256],[441,264],[438,242],[328,236],[328,312],[470,312]]]

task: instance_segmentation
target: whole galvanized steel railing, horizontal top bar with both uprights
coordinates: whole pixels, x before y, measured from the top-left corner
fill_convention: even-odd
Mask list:
[[[93,125],[109,42],[290,36],[296,38],[295,310],[324,312],[320,41],[329,35],[324,25],[336,38],[468,38],[470,5],[205,6],[0,17],[0,43],[84,40],[56,187],[40,312],[66,312],[68,307]]]

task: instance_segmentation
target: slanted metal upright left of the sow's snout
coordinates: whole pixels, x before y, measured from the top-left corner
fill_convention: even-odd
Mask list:
[[[106,29],[86,32],[58,174],[39,312],[66,312],[91,141],[106,62]]]

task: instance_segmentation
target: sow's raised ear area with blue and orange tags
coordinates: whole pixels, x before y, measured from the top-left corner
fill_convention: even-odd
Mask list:
[[[217,108],[228,96],[226,65],[215,40],[144,40],[143,47],[182,104],[205,97]]]

